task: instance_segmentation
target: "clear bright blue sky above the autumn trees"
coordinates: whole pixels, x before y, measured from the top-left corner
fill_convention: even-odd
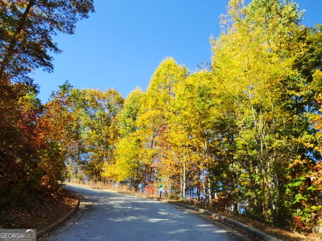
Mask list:
[[[248,1],[249,2],[249,1]],[[304,24],[322,23],[322,0],[295,0],[305,9]],[[115,88],[126,97],[146,90],[166,57],[191,71],[210,62],[209,38],[220,34],[219,16],[228,0],[95,0],[96,12],[76,24],[74,35],[53,38],[53,73],[37,70],[38,98],[47,102],[65,80],[74,88]]]

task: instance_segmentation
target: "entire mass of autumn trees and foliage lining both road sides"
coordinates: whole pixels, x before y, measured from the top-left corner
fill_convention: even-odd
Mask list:
[[[229,1],[199,71],[169,57],[125,99],[65,82],[45,104],[28,73],[52,70],[50,36],[73,33],[93,3],[0,8],[0,218],[76,178],[162,187],[169,199],[322,235],[322,25],[304,26],[295,2]],[[47,8],[57,11],[45,18]]]

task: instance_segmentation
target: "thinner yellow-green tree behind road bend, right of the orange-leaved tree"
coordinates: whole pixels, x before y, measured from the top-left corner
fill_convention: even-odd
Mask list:
[[[115,145],[120,137],[117,114],[124,99],[115,89],[105,92],[95,89],[75,90],[73,100],[82,103],[74,111],[82,127],[82,139],[89,155],[83,171],[90,179],[102,180],[104,166],[114,164]]]

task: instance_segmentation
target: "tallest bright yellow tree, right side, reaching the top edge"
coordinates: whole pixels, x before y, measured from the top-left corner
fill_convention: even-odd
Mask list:
[[[306,133],[312,133],[307,110],[314,111],[316,105],[307,86],[315,71],[312,66],[318,66],[320,59],[307,64],[312,54],[307,46],[313,45],[308,40],[314,39],[314,45],[319,41],[303,40],[317,32],[299,25],[302,13],[292,1],[243,4],[229,2],[227,28],[213,41],[212,70],[235,99],[239,135],[234,155],[245,170],[240,181],[248,180],[242,187],[251,190],[245,198],[259,219],[285,225],[294,208],[288,204],[292,200],[288,184],[296,183],[297,175],[290,172],[289,163],[311,153],[304,145]],[[314,56],[318,59],[320,54]]]

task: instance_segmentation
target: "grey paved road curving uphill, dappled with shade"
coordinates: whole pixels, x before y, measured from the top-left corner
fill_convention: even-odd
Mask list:
[[[196,212],[150,199],[83,186],[81,206],[45,240],[240,240],[238,233]]]

